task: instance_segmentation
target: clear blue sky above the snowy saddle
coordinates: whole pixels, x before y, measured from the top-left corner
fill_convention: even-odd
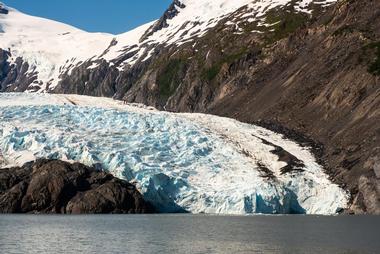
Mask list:
[[[88,32],[120,34],[161,17],[172,0],[0,0]]]

